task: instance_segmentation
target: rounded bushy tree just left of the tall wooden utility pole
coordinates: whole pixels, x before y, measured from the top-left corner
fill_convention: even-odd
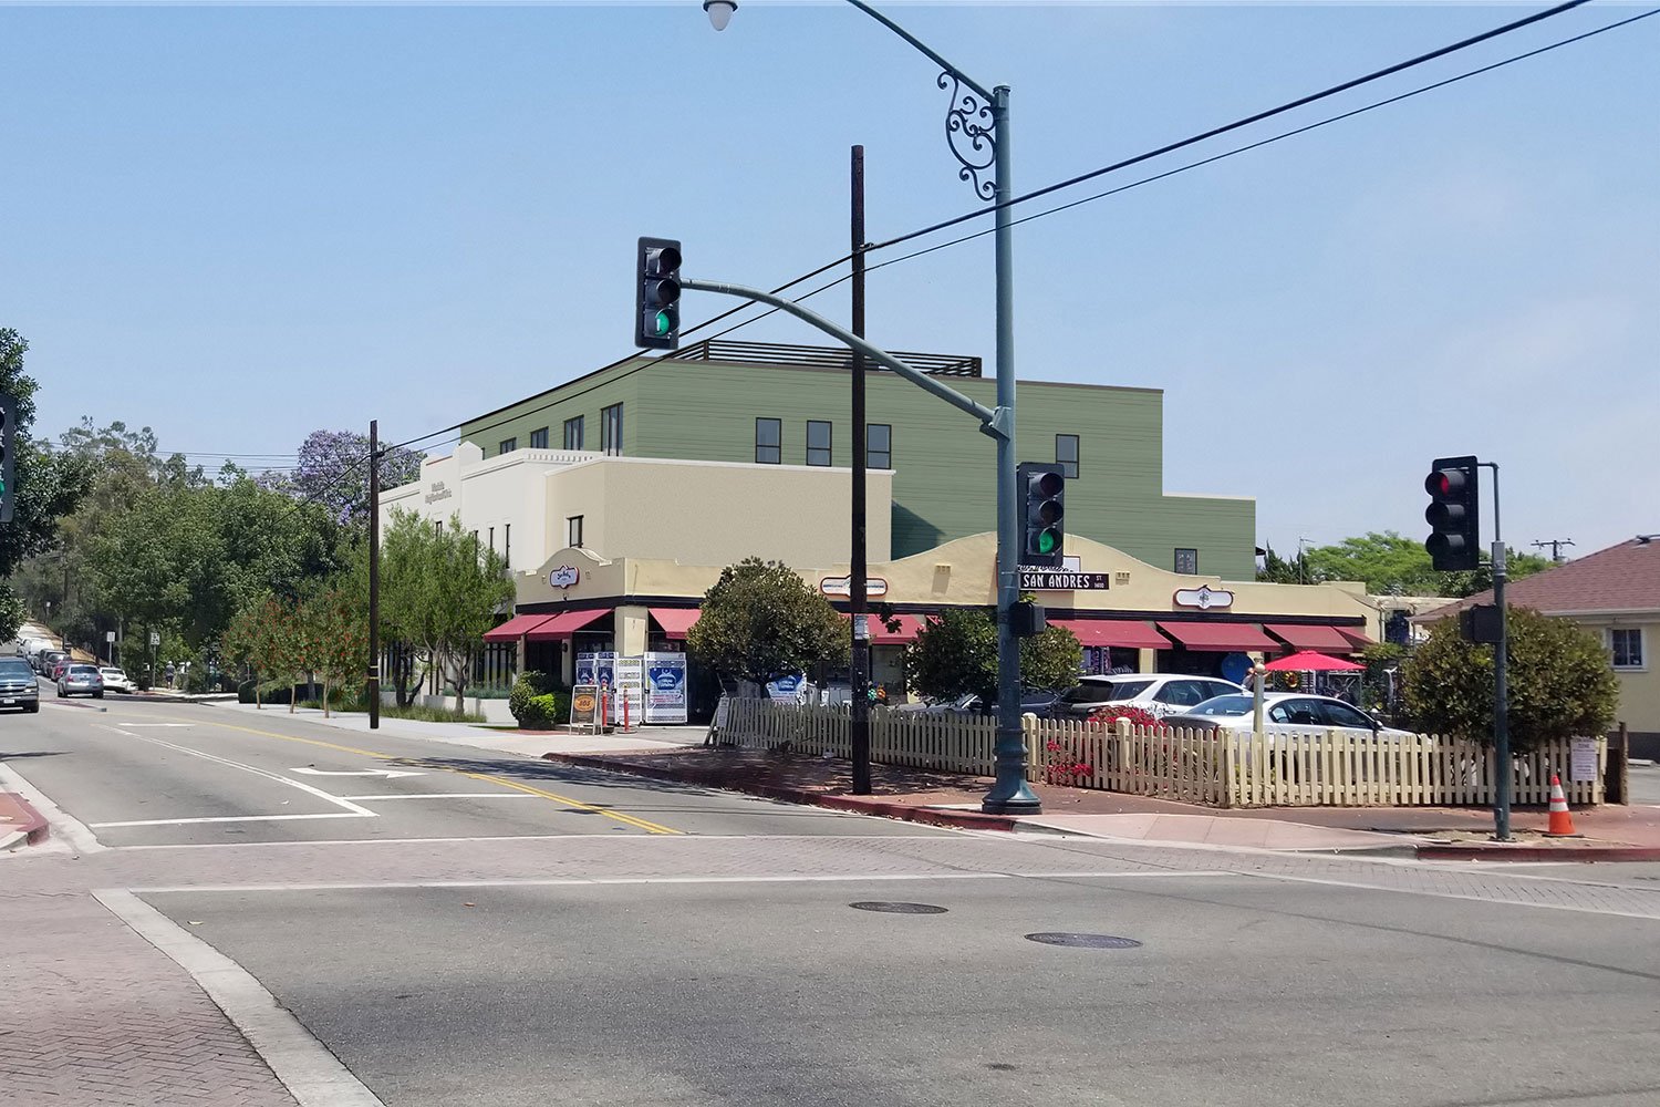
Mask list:
[[[704,593],[686,649],[725,680],[767,684],[822,664],[845,666],[847,621],[779,561],[745,558]]]

